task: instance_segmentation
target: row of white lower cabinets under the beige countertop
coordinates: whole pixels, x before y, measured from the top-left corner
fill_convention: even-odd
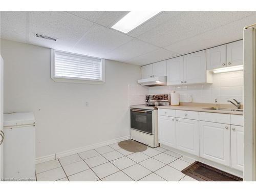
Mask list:
[[[159,143],[243,171],[243,115],[167,109],[159,114]]]

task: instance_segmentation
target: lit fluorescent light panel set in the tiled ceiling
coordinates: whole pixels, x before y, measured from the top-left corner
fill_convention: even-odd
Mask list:
[[[160,11],[130,11],[113,25],[112,28],[123,33],[128,33],[159,12]]]

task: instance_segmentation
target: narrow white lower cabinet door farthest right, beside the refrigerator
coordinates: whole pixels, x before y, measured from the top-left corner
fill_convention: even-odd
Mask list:
[[[244,127],[231,125],[231,166],[244,168]]]

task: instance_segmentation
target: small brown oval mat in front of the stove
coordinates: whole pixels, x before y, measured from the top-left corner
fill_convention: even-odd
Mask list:
[[[121,141],[118,143],[118,145],[124,150],[134,153],[143,152],[147,149],[146,145],[133,140]]]

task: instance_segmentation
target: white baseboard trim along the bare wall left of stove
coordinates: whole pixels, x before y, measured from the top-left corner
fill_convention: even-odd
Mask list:
[[[119,137],[119,138],[116,138],[116,139],[111,139],[111,140],[108,140],[108,141],[103,141],[103,142],[100,142],[100,143],[91,144],[91,145],[87,145],[87,146],[83,146],[83,147],[79,147],[79,148],[74,148],[73,150],[68,150],[68,151],[65,151],[65,152],[59,152],[59,153],[44,156],[44,157],[38,157],[38,158],[36,158],[36,164],[43,163],[43,162],[50,161],[50,160],[54,160],[54,159],[58,159],[58,158],[61,158],[61,157],[66,157],[66,156],[69,156],[69,155],[74,155],[74,154],[77,154],[77,153],[80,153],[80,152],[85,152],[85,151],[88,151],[88,150],[93,150],[94,148],[98,148],[98,147],[105,146],[105,145],[110,145],[110,144],[117,143],[117,142],[120,142],[120,141],[124,141],[124,140],[127,140],[127,139],[131,139],[131,135],[124,136],[124,137]]]

